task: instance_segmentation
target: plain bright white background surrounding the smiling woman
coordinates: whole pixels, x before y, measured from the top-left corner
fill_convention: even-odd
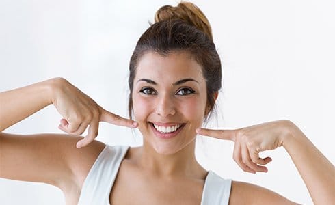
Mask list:
[[[332,1],[193,2],[209,18],[222,57],[219,116],[211,127],[288,119],[334,163]],[[148,20],[165,4],[176,1],[0,0],[0,91],[64,77],[105,109],[126,116],[129,59]],[[5,132],[61,133],[60,118],[49,106]],[[139,133],[104,123],[97,139],[110,145],[142,143]],[[259,184],[295,202],[312,204],[284,148],[263,154],[273,158],[269,173],[253,175],[232,160],[232,146],[201,137],[196,154],[206,169],[224,178]],[[0,204],[65,201],[50,185],[0,179]]]

